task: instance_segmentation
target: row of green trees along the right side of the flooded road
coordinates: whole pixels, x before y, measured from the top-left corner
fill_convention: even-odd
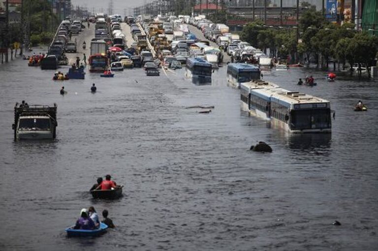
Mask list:
[[[342,26],[330,23],[315,10],[306,11],[296,29],[267,27],[262,21],[249,23],[241,31],[241,38],[264,51],[269,48],[270,57],[290,58],[307,66],[315,59],[316,67],[322,68],[328,68],[332,61],[334,70],[336,64],[339,68],[341,64],[343,69],[352,70],[355,63],[368,68],[378,56],[376,36],[369,31],[356,31],[351,23]]]

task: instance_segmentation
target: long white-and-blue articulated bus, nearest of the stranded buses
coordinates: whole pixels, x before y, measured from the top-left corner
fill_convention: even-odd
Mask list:
[[[325,99],[259,80],[242,83],[240,98],[243,110],[270,120],[273,127],[292,133],[331,132],[331,107]]]

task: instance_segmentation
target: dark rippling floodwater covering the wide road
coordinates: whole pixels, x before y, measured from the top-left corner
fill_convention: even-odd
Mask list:
[[[191,84],[184,69],[64,82],[53,72],[22,60],[0,66],[1,251],[377,249],[377,82],[264,72],[336,111],[332,134],[289,135],[240,111],[225,66],[207,86]],[[296,86],[307,74],[317,86]],[[56,140],[13,141],[13,107],[23,99],[58,104]],[[359,99],[367,112],[353,111]],[[194,105],[215,109],[186,109]],[[249,151],[257,141],[273,153]],[[91,198],[106,174],[125,186],[121,199]],[[91,205],[107,209],[117,228],[67,238],[64,228]]]

